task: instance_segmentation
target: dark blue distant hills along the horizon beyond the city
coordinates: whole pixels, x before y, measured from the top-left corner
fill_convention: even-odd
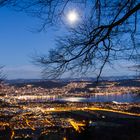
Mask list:
[[[70,82],[81,82],[86,81],[92,83],[92,86],[95,86],[96,78],[84,77],[84,78],[63,78],[57,80],[44,80],[44,79],[14,79],[7,80],[6,83],[9,85],[23,87],[26,85],[33,85],[34,87],[43,87],[43,88],[61,88],[66,86]],[[140,87],[140,80],[137,80],[134,76],[112,76],[112,77],[102,77],[102,81],[117,81],[119,86],[136,86]]]

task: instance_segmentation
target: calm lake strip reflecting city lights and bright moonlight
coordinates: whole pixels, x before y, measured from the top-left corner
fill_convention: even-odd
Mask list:
[[[138,103],[140,102],[140,96],[138,94],[109,94],[109,95],[99,95],[95,94],[91,97],[62,97],[57,95],[22,95],[22,96],[5,96],[3,98],[6,102],[35,102],[35,103],[45,103],[45,102],[128,102],[128,103]]]

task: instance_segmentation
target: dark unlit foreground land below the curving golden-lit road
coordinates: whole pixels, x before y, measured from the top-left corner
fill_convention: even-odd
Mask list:
[[[14,134],[27,134],[26,137],[15,140],[140,140],[140,117],[108,111],[62,111],[55,114],[56,125],[32,129],[18,129]],[[49,114],[50,115],[50,114]],[[31,116],[31,114],[30,114]],[[67,126],[60,124],[61,120],[73,120],[84,123]],[[58,120],[58,121],[57,121]],[[74,124],[73,123],[73,124]],[[54,123],[55,124],[55,123]],[[77,129],[76,129],[77,128]],[[46,131],[44,131],[46,130]],[[43,132],[44,133],[41,133]],[[12,130],[6,128],[0,131],[0,140],[10,140]]]

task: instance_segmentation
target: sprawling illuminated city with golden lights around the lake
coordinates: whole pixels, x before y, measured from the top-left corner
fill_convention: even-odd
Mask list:
[[[51,89],[29,84],[24,87],[1,84],[0,131],[8,133],[9,139],[39,138],[49,133],[62,133],[61,137],[66,138],[65,131],[81,133],[87,123],[96,125],[98,121],[94,124],[94,120],[103,120],[108,116],[106,113],[99,115],[98,111],[128,115],[125,116],[128,118],[140,117],[139,101],[98,102],[102,96],[107,99],[112,96],[117,99],[119,95],[121,98],[130,98],[130,93],[137,96],[139,87],[117,87],[117,82],[106,82],[104,87],[102,83],[96,87],[90,84],[83,81],[70,82],[62,88]],[[91,99],[95,97],[97,101],[93,102]],[[1,133],[0,137],[4,138],[4,135]]]

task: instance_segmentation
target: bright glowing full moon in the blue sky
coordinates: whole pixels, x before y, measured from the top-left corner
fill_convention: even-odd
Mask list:
[[[67,20],[70,24],[74,24],[78,21],[79,19],[79,15],[78,13],[73,10],[73,11],[70,11],[68,14],[67,14]]]

